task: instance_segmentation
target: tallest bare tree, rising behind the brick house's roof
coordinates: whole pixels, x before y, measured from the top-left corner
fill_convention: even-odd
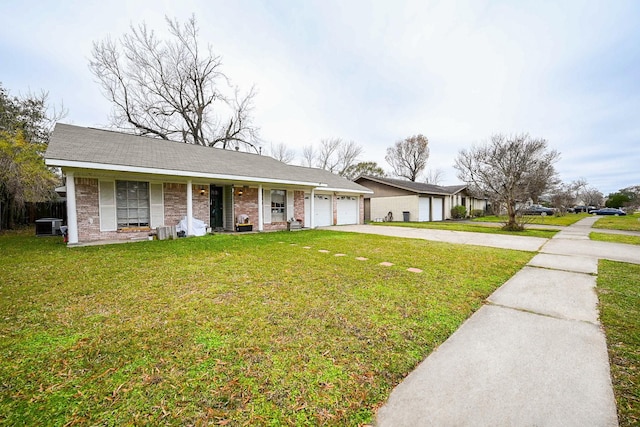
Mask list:
[[[184,25],[165,19],[169,40],[143,23],[119,42],[93,43],[89,68],[113,103],[112,125],[190,144],[256,149],[253,88],[241,93],[231,86],[220,56],[198,44],[193,16]]]

